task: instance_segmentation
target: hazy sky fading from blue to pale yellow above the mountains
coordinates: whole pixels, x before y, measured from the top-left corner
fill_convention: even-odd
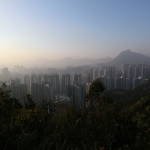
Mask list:
[[[0,0],[0,63],[150,53],[150,0]]]

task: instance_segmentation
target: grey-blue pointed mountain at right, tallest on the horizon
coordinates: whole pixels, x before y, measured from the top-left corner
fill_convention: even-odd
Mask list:
[[[121,52],[116,58],[110,61],[109,65],[120,67],[122,63],[125,64],[150,64],[150,57],[140,53],[126,50]]]

